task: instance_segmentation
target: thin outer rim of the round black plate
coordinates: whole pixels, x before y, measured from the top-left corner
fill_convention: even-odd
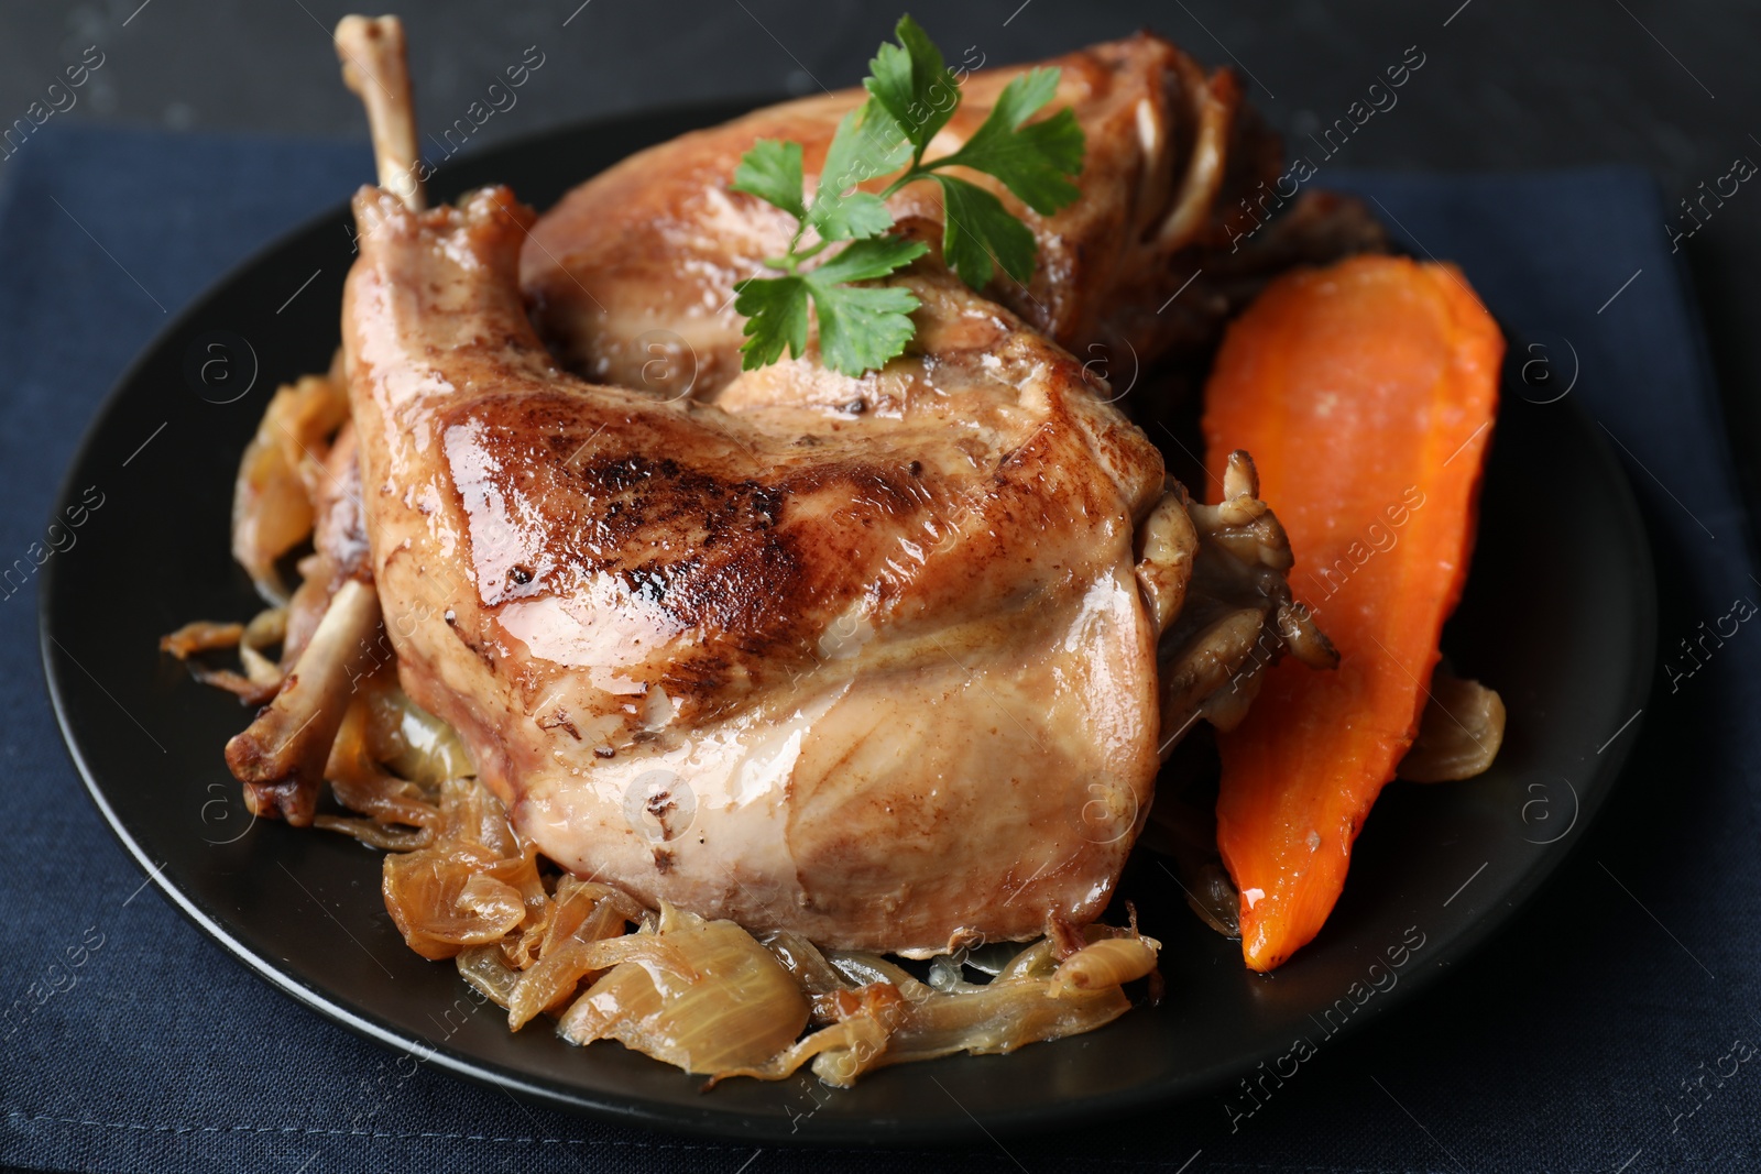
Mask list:
[[[627,127],[641,120],[664,120],[664,118],[696,118],[703,116],[697,125],[710,127],[717,121],[726,121],[729,116],[738,116],[743,109],[754,109],[757,104],[775,100],[773,95],[761,97],[731,97],[731,99],[713,99],[697,102],[678,102],[666,106],[639,107],[630,111],[620,111],[615,114],[571,120],[534,130],[523,136],[511,137],[505,143],[488,146],[481,151],[470,153],[458,160],[453,160],[437,169],[437,178],[442,181],[449,172],[460,169],[477,169],[490,165],[502,155],[518,155],[521,151],[530,151],[551,139],[565,139],[571,136],[579,136],[583,132],[592,132],[593,128],[604,127]],[[745,102],[754,102],[755,106],[745,106]],[[366,185],[366,178],[363,178]],[[77,472],[86,465],[92,456],[92,449],[99,442],[102,426],[107,422],[111,414],[122,405],[123,398],[129,394],[130,387],[137,382],[143,368],[151,361],[158,349],[180,333],[181,329],[192,326],[204,312],[210,310],[215,296],[225,287],[247,278],[254,269],[262,266],[271,255],[285,248],[292,239],[319,229],[321,225],[333,224],[338,218],[347,216],[349,197],[343,197],[338,204],[328,206],[299,222],[289,225],[287,229],[276,232],[271,239],[264,241],[257,248],[250,250],[241,260],[229,266],[222,275],[211,280],[195,294],[176,315],[160,326],[153,333],[151,340],[130,359],[123,368],[122,375],[114,380],[104,398],[99,401],[92,412],[86,428],[79,438],[79,444],[69,458],[67,468],[62,473],[56,493],[51,503],[51,519],[58,517],[58,510],[65,502],[72,498],[72,493],[79,482]],[[1502,329],[1500,320],[1500,329]],[[1500,408],[1509,403],[1511,396],[1509,380],[1500,378]],[[1634,665],[1634,672],[1625,681],[1624,697],[1625,701],[1638,708],[1639,713],[1632,720],[1632,737],[1622,737],[1620,745],[1611,748],[1613,753],[1603,757],[1597,769],[1592,774],[1592,785],[1585,787],[1588,794],[1588,803],[1583,804],[1581,829],[1587,833],[1595,822],[1595,817],[1603,810],[1608,799],[1608,792],[1620,783],[1620,776],[1631,759],[1632,748],[1638,745],[1638,737],[1645,727],[1645,704],[1655,685],[1655,660],[1657,660],[1657,563],[1655,547],[1650,537],[1650,530],[1645,523],[1643,510],[1639,509],[1638,496],[1632,489],[1631,477],[1622,466],[1620,459],[1615,456],[1613,449],[1603,437],[1588,426],[1590,415],[1576,401],[1566,401],[1560,405],[1567,415],[1573,417],[1571,428],[1585,438],[1585,449],[1604,472],[1617,493],[1610,503],[1613,512],[1620,516],[1624,533],[1634,542],[1636,554],[1643,567],[1643,574],[1636,577],[1632,584],[1638,597],[1638,620],[1639,620],[1639,657]],[[1497,437],[1493,437],[1493,445]],[[1472,572],[1469,572],[1472,574]],[[645,1100],[641,1097],[606,1097],[601,1093],[576,1091],[569,1095],[556,1086],[548,1082],[534,1081],[530,1075],[505,1068],[495,1061],[470,1056],[465,1053],[453,1051],[453,1046],[442,1042],[440,1046],[431,1046],[421,1040],[412,1040],[396,1028],[380,1023],[368,1009],[356,1007],[352,1002],[333,996],[315,986],[301,982],[291,973],[284,973],[276,968],[273,959],[257,954],[247,943],[238,940],[217,915],[204,910],[188,894],[178,889],[176,884],[166,875],[169,869],[164,862],[155,864],[151,857],[141,848],[127,824],[118,817],[114,808],[109,804],[104,790],[86,762],[86,757],[77,745],[70,730],[69,702],[63,695],[62,671],[58,667],[55,627],[56,627],[56,607],[55,598],[58,595],[58,583],[62,579],[62,565],[58,560],[51,560],[39,572],[37,588],[37,634],[39,634],[39,657],[44,671],[44,686],[48,692],[51,711],[55,713],[56,727],[62,736],[62,745],[67,750],[74,769],[79,773],[81,783],[85,785],[86,796],[92,799],[104,824],[114,834],[130,857],[143,868],[148,880],[158,887],[158,891],[167,896],[173,906],[181,912],[195,928],[217,942],[227,954],[236,961],[243,963],[252,973],[268,980],[269,987],[291,998],[294,1003],[317,1012],[319,1016],[336,1023],[359,1037],[372,1040],[382,1047],[393,1049],[400,1054],[410,1054],[423,1063],[435,1063],[451,1075],[463,1077],[474,1084],[502,1090],[511,1095],[523,1097],[534,1104],[541,1104],[546,1109],[562,1111],[569,1114],[583,1114],[601,1121],[623,1125],[623,1126],[641,1126],[667,1130],[674,1134],[689,1134],[696,1137],[713,1137],[718,1141],[764,1141],[768,1144],[789,1144],[807,1149],[835,1148],[844,1144],[866,1144],[866,1146],[932,1146],[946,1144],[951,1141],[951,1126],[940,1119],[914,1126],[910,1119],[902,1118],[835,1118],[819,1119],[803,1132],[787,1132],[782,1126],[787,1125],[787,1118],[764,1118],[743,1111],[715,1109],[710,1105],[708,1098],[704,1105],[696,1111],[682,1111],[676,1105]],[[65,651],[65,649],[62,649]],[[70,653],[67,653],[72,660]],[[1411,980],[1400,984],[1405,993],[1389,989],[1386,998],[1375,1000],[1375,1007],[1367,1009],[1370,1014],[1352,1016],[1342,1028],[1338,1035],[1351,1035],[1358,1038],[1368,1023],[1381,1023],[1382,1017],[1395,1009],[1407,1007],[1412,998],[1423,991],[1430,991],[1432,986],[1440,982],[1455,963],[1474,954],[1490,936],[1506,928],[1534,898],[1534,894],[1553,877],[1553,873],[1564,864],[1566,859],[1573,857],[1578,845],[1583,841],[1583,834],[1576,836],[1571,843],[1562,845],[1560,852],[1546,852],[1536,859],[1534,864],[1527,868],[1522,880],[1502,896],[1504,899],[1485,912],[1481,912],[1474,921],[1455,936],[1451,936],[1442,949],[1426,958],[1423,968],[1411,973]],[[1335,1038],[1330,1035],[1328,1038]],[[1264,1049],[1254,1051],[1250,1054],[1252,1061],[1270,1061],[1282,1053],[1280,1046],[1268,1046]],[[1176,1105],[1190,1104],[1197,1100],[1206,1091],[1217,1091],[1227,1084],[1240,1072],[1250,1070],[1252,1063],[1243,1065],[1213,1065],[1212,1068],[1190,1072],[1178,1081],[1146,1081],[1125,1090],[1113,1090],[1099,1095],[1087,1097],[1067,1097],[1057,1104],[1055,1109],[1034,1107],[1020,1109],[1006,1114],[986,1114],[983,1119],[972,1118],[977,1128],[997,1130],[1011,1137],[1025,1137],[1032,1134],[1053,1132],[1065,1128],[1076,1121],[1101,1121],[1116,1119],[1120,1116],[1139,1112],[1155,1105]],[[970,1116],[970,1114],[969,1114]]]

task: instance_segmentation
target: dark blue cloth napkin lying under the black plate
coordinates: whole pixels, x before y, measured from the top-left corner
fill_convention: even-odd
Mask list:
[[[363,148],[319,143],[55,127],[26,144],[0,190],[0,563],[42,537],[81,431],[167,313],[370,174]],[[1664,655],[1733,598],[1761,598],[1652,185],[1622,171],[1351,183],[1414,252],[1460,260],[1518,334],[1574,345],[1571,394],[1624,449],[1652,530]],[[204,940],[143,884],[83,794],[44,699],[26,586],[0,600],[0,1162],[289,1174],[1757,1169],[1761,1058],[1710,1075],[1733,1063],[1720,1063],[1733,1042],[1761,1047],[1757,651],[1745,628],[1673,693],[1659,671],[1627,776],[1532,906],[1455,979],[1323,1053],[1238,1134],[1217,1100],[1199,1100],[1007,1151],[974,1130],[958,1153],[754,1156],[528,1109],[431,1065],[402,1079],[389,1053]]]

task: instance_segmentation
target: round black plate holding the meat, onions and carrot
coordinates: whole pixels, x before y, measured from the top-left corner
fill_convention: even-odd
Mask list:
[[[442,172],[433,194],[500,181],[546,208],[627,153],[733,113],[692,107],[553,132]],[[1168,996],[1079,1038],[888,1068],[852,1091],[799,1075],[703,1095],[699,1077],[615,1044],[583,1051],[539,1026],[511,1035],[498,1016],[470,1014],[453,966],[403,947],[375,852],[250,822],[220,757],[247,713],[155,651],[188,620],[257,607],[227,553],[232,473],[275,385],[329,364],[349,262],[338,206],[217,285],[123,377],[58,512],[123,461],[143,465],[151,489],[106,503],[106,517],[123,519],[111,519],[113,540],[81,542],[44,567],[42,655],[92,797],[171,899],[313,1010],[461,1075],[724,1137],[930,1142],[969,1139],[974,1118],[993,1134],[1074,1125],[1219,1088],[1259,1061],[1289,1068],[1298,1037],[1326,1047],[1507,921],[1581,838],[1634,739],[1624,727],[1645,701],[1655,642],[1643,525],[1620,468],[1567,403],[1507,394],[1474,574],[1444,644],[1502,692],[1509,739],[1479,780],[1384,794],[1331,921],[1277,975],[1247,973],[1240,947],[1138,861],[1125,892],[1166,943]],[[141,449],[162,428],[167,438]]]

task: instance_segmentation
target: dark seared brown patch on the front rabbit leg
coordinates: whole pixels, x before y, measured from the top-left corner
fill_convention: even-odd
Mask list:
[[[655,649],[674,701],[812,662],[930,500],[921,463],[766,470],[692,415],[567,389],[472,398],[440,437],[481,604],[611,588],[678,634]]]

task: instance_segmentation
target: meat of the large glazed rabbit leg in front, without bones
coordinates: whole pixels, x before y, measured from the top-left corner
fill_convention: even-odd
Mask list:
[[[1134,542],[1162,461],[1069,354],[919,262],[917,354],[662,403],[556,370],[505,190],[356,215],[387,630],[523,836],[845,947],[1101,912],[1157,767]]]

